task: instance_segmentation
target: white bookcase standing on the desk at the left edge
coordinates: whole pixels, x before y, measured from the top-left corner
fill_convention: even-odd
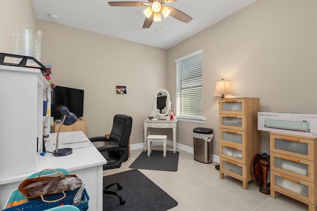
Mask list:
[[[0,184],[37,170],[42,148],[43,100],[52,89],[40,69],[0,65]],[[49,125],[47,125],[49,127]]]

